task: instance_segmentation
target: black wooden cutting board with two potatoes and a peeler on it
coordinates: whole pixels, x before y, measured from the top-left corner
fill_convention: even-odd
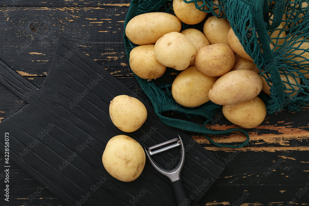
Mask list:
[[[126,134],[143,147],[176,138],[186,147],[181,178],[197,203],[225,165],[179,129],[163,124],[153,108],[101,66],[60,37],[52,65],[39,90],[3,62],[0,82],[28,105],[0,123],[9,133],[10,160],[71,205],[176,205],[170,181],[148,160],[138,179],[121,182],[107,173],[102,154],[108,140]],[[125,133],[110,120],[117,95],[141,100],[148,111],[143,126]],[[0,151],[4,151],[0,138]],[[166,169],[178,164],[179,147],[154,156]],[[86,199],[86,200],[85,200]]]

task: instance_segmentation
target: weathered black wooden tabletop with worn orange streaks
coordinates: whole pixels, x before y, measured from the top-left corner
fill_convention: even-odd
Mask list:
[[[58,36],[63,35],[150,103],[125,55],[122,35],[129,0],[2,0],[0,6],[0,59],[38,88],[49,70]],[[2,85],[0,94],[0,120],[26,105]],[[260,126],[248,130],[251,141],[241,149],[218,148],[200,134],[188,132],[226,164],[199,205],[309,205],[308,115],[308,106],[298,113],[267,115]],[[207,127],[236,126],[218,113]],[[228,143],[245,137],[234,134],[213,139]],[[0,205],[65,205],[12,162],[8,164],[10,201],[4,201],[4,165],[1,153]]]

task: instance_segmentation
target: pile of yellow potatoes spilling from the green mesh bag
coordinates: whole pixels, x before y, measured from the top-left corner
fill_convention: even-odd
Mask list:
[[[224,116],[236,125],[253,128],[261,124],[266,107],[257,95],[262,90],[270,95],[270,86],[265,81],[269,76],[260,76],[228,20],[211,16],[206,19],[203,32],[193,28],[180,31],[181,22],[200,23],[207,13],[183,0],[173,0],[173,9],[176,16],[152,12],[128,22],[125,34],[139,45],[130,53],[132,71],[140,78],[150,80],[162,76],[167,67],[181,70],[171,88],[177,103],[197,107],[212,101],[223,105]],[[272,38],[277,36],[284,38],[286,34],[280,31],[271,34]],[[273,44],[280,45],[282,41],[270,42],[272,49]],[[303,55],[307,58],[308,54]],[[281,74],[281,79],[300,83],[299,78],[289,74]],[[284,84],[290,96],[297,94],[289,89],[298,90],[298,87]]]

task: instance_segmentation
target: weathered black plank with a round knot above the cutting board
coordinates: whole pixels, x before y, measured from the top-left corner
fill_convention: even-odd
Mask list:
[[[24,76],[45,76],[61,34],[115,76],[133,76],[122,40],[127,10],[0,7],[0,58]]]

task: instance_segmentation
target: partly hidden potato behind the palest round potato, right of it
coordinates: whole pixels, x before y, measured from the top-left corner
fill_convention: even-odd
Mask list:
[[[204,34],[197,29],[185,29],[180,32],[180,34],[186,36],[193,43],[196,52],[198,52],[202,47],[210,45]],[[190,62],[189,66],[193,65],[194,59]]]

